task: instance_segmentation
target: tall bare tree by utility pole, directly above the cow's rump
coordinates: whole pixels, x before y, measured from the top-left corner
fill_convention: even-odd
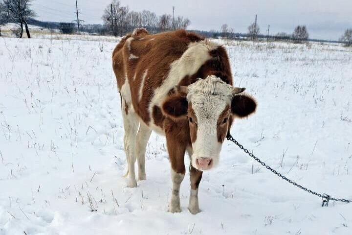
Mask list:
[[[116,37],[128,31],[128,6],[122,6],[119,0],[112,0],[105,8],[102,20],[111,33]]]

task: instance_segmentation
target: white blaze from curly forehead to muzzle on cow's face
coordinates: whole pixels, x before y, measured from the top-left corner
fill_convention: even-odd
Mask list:
[[[187,99],[197,117],[197,139],[192,143],[192,165],[210,169],[219,162],[222,143],[218,141],[218,119],[224,109],[231,105],[233,87],[216,76],[200,79],[188,86]],[[209,161],[209,166],[199,167],[197,161]]]

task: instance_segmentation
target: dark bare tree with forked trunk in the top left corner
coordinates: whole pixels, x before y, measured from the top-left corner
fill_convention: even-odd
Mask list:
[[[8,15],[10,22],[15,22],[20,25],[23,35],[23,24],[25,26],[27,37],[30,38],[28,29],[28,21],[35,17],[35,12],[30,9],[32,0],[3,0],[3,6]]]

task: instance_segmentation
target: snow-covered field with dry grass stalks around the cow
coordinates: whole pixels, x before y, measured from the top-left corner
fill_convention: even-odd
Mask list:
[[[116,43],[0,38],[0,235],[351,235],[352,204],[287,184],[225,141],[201,212],[169,213],[164,137],[126,188]],[[352,50],[229,42],[234,84],[258,101],[232,135],[292,180],[352,199]],[[188,165],[188,159],[185,158]]]

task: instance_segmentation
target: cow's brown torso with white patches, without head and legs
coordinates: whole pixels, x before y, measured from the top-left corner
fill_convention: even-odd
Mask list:
[[[150,35],[136,29],[116,46],[112,60],[126,105],[159,132],[161,102],[175,85],[188,86],[210,74],[232,84],[225,49],[185,30]]]

